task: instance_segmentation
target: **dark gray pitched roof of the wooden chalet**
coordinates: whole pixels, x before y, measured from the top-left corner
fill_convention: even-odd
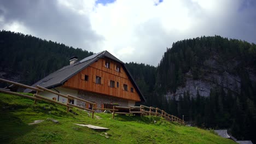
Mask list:
[[[108,51],[102,51],[102,52],[96,53],[78,62],[75,62],[74,64],[67,65],[59,70],[56,70],[54,73],[51,73],[48,76],[44,77],[42,80],[39,80],[38,82],[34,83],[32,87],[35,87],[37,85],[45,88],[54,88],[54,87],[61,86],[72,76],[79,73],[79,71],[83,70],[84,68],[88,67],[90,64],[97,61],[99,58],[103,58],[103,57],[112,59],[113,61],[118,62],[122,65],[122,67],[128,74],[131,82],[133,83],[133,85],[135,85],[135,88],[138,91],[139,97],[141,97],[142,101],[145,101],[146,99],[143,97],[141,91],[139,91],[139,88],[136,85],[135,80],[133,80],[129,70],[125,67],[125,64],[122,61],[120,61],[118,58],[113,56],[111,53],[109,53]],[[25,89],[24,92],[29,93],[29,92],[32,92],[32,90]]]

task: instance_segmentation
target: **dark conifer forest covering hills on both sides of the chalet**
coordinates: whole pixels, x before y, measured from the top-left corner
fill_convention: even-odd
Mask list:
[[[31,35],[0,32],[0,76],[28,85],[68,65],[71,56],[92,54]],[[125,65],[147,99],[143,104],[184,115],[197,127],[228,129],[238,140],[256,142],[255,63],[255,44],[214,36],[173,43],[158,67]]]

